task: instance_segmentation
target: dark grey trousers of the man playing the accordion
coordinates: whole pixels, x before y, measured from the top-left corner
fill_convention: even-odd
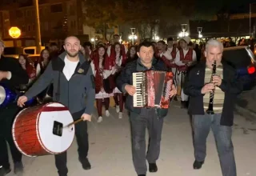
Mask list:
[[[160,154],[163,118],[158,119],[154,109],[142,108],[141,114],[130,112],[133,162],[137,174],[146,174],[146,160],[155,163]],[[149,130],[149,146],[146,153],[146,128]]]

